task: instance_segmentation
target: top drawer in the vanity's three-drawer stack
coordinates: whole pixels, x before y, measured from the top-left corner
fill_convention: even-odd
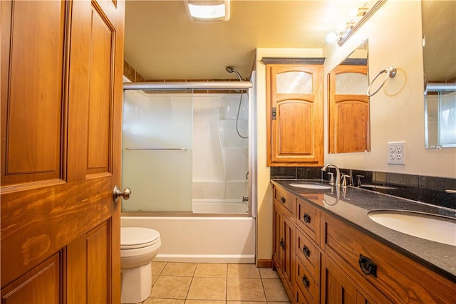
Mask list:
[[[320,212],[306,201],[297,199],[296,224],[304,231],[312,241],[320,239]]]

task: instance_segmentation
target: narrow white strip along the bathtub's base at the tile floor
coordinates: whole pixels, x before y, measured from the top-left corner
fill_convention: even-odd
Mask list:
[[[254,255],[237,254],[158,254],[153,261],[182,263],[237,263],[254,264]]]

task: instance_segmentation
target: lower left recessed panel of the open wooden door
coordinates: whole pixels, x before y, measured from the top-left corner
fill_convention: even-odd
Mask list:
[[[54,254],[26,275],[2,289],[1,303],[62,303],[61,254],[61,252]]]

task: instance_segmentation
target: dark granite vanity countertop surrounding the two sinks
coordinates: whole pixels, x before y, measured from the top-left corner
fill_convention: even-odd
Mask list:
[[[356,187],[331,187],[331,189],[304,189],[290,186],[294,182],[317,182],[330,186],[327,182],[316,179],[271,179],[273,184],[287,189],[289,192],[314,203],[319,209],[336,216],[346,224],[371,236],[373,239],[403,253],[413,261],[430,268],[441,276],[456,282],[456,246],[420,239],[403,234],[375,223],[368,217],[373,210],[405,210],[417,211],[450,217],[456,222],[456,210],[401,199],[395,196],[380,194]],[[339,189],[339,194],[336,194]],[[323,194],[321,201],[306,197],[306,194]],[[338,196],[338,197],[337,197]],[[442,231],[445,234],[445,231]]]

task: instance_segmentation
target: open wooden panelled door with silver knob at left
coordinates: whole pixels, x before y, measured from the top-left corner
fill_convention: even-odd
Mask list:
[[[1,1],[2,303],[120,303],[124,12]]]

